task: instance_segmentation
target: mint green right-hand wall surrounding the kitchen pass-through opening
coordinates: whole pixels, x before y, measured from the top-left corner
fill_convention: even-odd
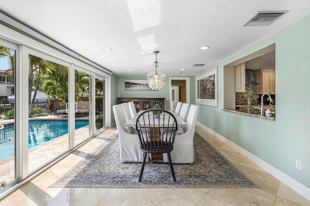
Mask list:
[[[222,111],[223,66],[273,43],[276,120]],[[310,188],[310,15],[207,70],[215,66],[218,107],[197,104],[198,121]],[[302,171],[295,169],[295,159],[302,161]]]

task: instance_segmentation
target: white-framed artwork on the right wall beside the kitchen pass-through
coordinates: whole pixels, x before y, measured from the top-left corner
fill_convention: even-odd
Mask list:
[[[217,67],[196,76],[196,103],[217,106]]]

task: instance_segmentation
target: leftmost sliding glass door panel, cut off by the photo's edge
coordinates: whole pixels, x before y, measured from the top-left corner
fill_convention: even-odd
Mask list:
[[[16,179],[16,50],[0,39],[0,182]]]

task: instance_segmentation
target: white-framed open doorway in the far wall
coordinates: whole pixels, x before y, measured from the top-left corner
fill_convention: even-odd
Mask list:
[[[171,77],[169,80],[169,108],[174,111],[177,102],[189,103],[189,77]]]

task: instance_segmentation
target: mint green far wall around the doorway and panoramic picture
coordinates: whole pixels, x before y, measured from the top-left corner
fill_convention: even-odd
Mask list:
[[[182,76],[189,77],[189,76]],[[117,97],[154,97],[154,98],[167,98],[169,97],[169,77],[166,78],[164,88],[158,91],[125,91],[125,79],[146,79],[146,77],[137,76],[119,76],[118,77],[118,96]],[[145,80],[146,81],[146,80]],[[195,87],[194,77],[190,77],[190,103],[195,103]],[[165,109],[169,109],[169,100],[165,100]]]

